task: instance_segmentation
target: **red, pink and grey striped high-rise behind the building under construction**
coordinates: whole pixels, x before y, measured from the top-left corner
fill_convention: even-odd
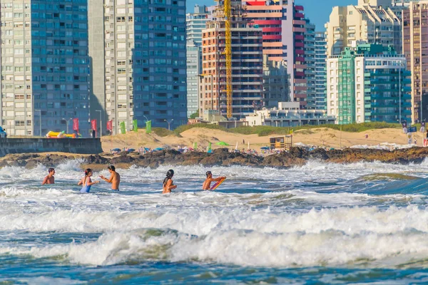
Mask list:
[[[294,0],[248,0],[245,18],[263,30],[263,53],[271,61],[286,61],[290,75],[291,99],[307,108],[305,79],[305,15]]]

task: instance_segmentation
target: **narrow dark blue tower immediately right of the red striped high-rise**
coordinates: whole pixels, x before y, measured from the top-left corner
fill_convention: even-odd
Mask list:
[[[317,91],[315,78],[315,25],[306,20],[305,25],[305,79],[307,81],[307,110],[315,110],[317,108]]]

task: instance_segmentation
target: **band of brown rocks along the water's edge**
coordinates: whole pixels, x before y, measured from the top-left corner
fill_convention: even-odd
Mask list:
[[[57,154],[9,154],[0,158],[0,167],[19,166],[28,169],[37,165],[55,167],[66,160],[82,160],[81,167],[91,167],[95,170],[103,169],[106,165],[116,165],[118,168],[128,168],[132,165],[139,167],[156,168],[160,165],[204,165],[204,166],[231,166],[243,165],[251,167],[293,167],[304,165],[308,160],[320,160],[324,162],[352,163],[352,162],[387,162],[387,163],[421,163],[428,156],[428,147],[412,147],[403,150],[323,150],[316,149],[308,152],[300,147],[292,147],[289,152],[265,157],[228,152],[228,149],[220,148],[213,153],[187,152],[180,153],[176,150],[162,150],[150,152],[146,155],[129,153],[111,155],[101,153],[99,155],[57,155]]]

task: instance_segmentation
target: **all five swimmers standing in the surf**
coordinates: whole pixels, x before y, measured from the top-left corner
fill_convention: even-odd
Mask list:
[[[121,175],[119,175],[118,172],[116,172],[116,169],[113,165],[110,165],[109,167],[107,167],[107,169],[108,169],[108,172],[110,172],[111,174],[110,178],[106,178],[103,175],[100,175],[99,177],[102,180],[108,183],[111,183],[111,190],[119,191],[119,184],[121,183]],[[49,168],[48,172],[49,174],[46,175],[41,185],[55,184],[55,177],[54,177],[55,169]],[[81,193],[89,193],[89,191],[91,190],[91,186],[100,182],[100,181],[92,181],[91,180],[92,175],[93,175],[93,172],[91,168],[86,169],[85,176],[82,177],[82,179],[77,183],[77,185],[82,185],[82,189],[80,190]],[[207,171],[205,175],[207,175],[207,177],[203,182],[202,190],[210,190],[211,182],[217,182],[226,178],[224,176],[213,178],[213,173],[211,173],[210,171]],[[168,170],[168,172],[166,172],[166,177],[163,180],[163,192],[162,192],[163,194],[170,193],[171,190],[174,190],[175,188],[177,188],[177,185],[173,184],[173,176],[174,176],[174,170]]]

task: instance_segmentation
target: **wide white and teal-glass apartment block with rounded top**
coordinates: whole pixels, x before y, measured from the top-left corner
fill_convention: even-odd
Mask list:
[[[327,60],[327,114],[336,123],[411,118],[410,72],[392,47],[364,44]]]

